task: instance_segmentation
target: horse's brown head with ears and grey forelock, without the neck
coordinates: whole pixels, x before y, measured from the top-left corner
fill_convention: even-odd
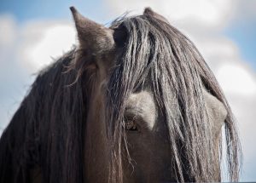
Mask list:
[[[221,128],[225,124],[234,148],[236,129],[224,94],[194,44],[149,8],[109,28],[71,9],[80,43],[74,61],[92,80],[87,178],[221,180]]]

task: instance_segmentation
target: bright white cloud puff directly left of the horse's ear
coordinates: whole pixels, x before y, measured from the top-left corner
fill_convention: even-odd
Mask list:
[[[39,70],[49,65],[76,43],[75,29],[65,21],[30,22],[20,31],[18,56],[31,69]]]

